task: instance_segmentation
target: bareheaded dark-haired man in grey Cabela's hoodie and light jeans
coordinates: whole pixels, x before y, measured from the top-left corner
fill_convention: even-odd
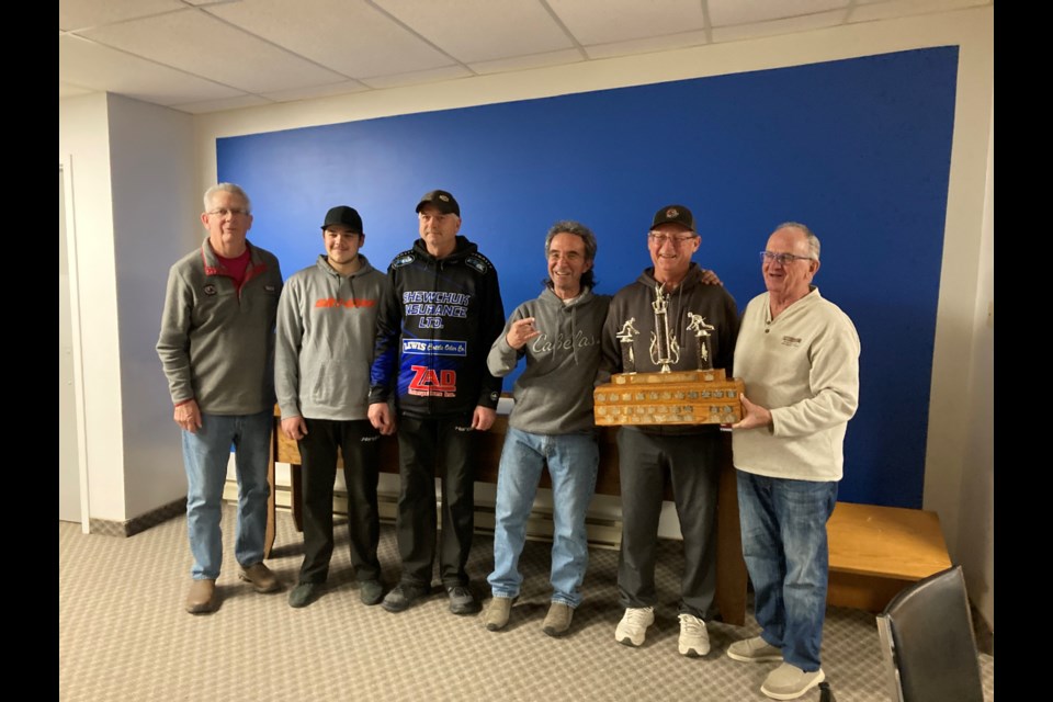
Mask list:
[[[561,636],[570,626],[588,565],[585,513],[596,489],[599,449],[592,421],[592,384],[600,363],[600,332],[610,297],[592,294],[596,237],[577,222],[557,222],[545,238],[548,280],[536,299],[520,305],[487,358],[503,377],[526,358],[516,381],[497,479],[494,593],[485,620],[503,629],[523,581],[519,556],[541,471],[552,477],[552,605],[543,630]]]

